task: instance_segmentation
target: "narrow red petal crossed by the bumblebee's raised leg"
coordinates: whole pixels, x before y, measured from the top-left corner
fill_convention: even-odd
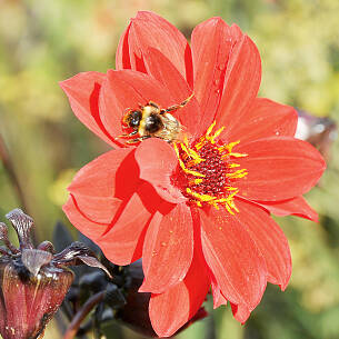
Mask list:
[[[150,48],[144,59],[148,73],[159,80],[170,92],[173,100],[171,104],[179,104],[192,94],[186,80],[162,52]],[[187,106],[173,111],[172,114],[181,122],[185,130],[189,131],[189,134],[196,136],[200,120],[200,108],[195,97]]]

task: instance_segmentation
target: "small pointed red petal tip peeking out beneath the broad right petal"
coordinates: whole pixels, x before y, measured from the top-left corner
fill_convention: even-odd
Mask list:
[[[256,201],[278,217],[298,216],[318,222],[318,213],[307,203],[303,197],[285,201]]]

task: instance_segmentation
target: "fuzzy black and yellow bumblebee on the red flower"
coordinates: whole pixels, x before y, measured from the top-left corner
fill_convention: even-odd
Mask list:
[[[192,97],[193,94],[167,109],[161,109],[153,101],[146,106],[139,104],[139,109],[129,109],[122,118],[122,128],[132,129],[132,132],[119,138],[132,138],[126,141],[127,143],[136,143],[148,138],[160,138],[168,142],[183,141],[183,127],[170,112],[185,107]]]

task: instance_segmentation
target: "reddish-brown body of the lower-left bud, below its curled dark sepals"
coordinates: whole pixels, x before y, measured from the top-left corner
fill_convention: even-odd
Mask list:
[[[33,275],[20,257],[3,258],[0,281],[0,333],[3,339],[28,339],[43,332],[71,286],[73,273],[48,265]]]

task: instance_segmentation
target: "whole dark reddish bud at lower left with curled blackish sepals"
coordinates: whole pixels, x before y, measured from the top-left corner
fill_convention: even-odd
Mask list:
[[[0,222],[0,240],[4,243],[0,248],[0,333],[3,339],[42,338],[73,281],[73,272],[66,266],[86,263],[109,272],[81,242],[57,255],[49,241],[34,249],[30,239],[32,218],[20,209],[6,217],[20,246],[17,249],[9,241],[7,226]]]

